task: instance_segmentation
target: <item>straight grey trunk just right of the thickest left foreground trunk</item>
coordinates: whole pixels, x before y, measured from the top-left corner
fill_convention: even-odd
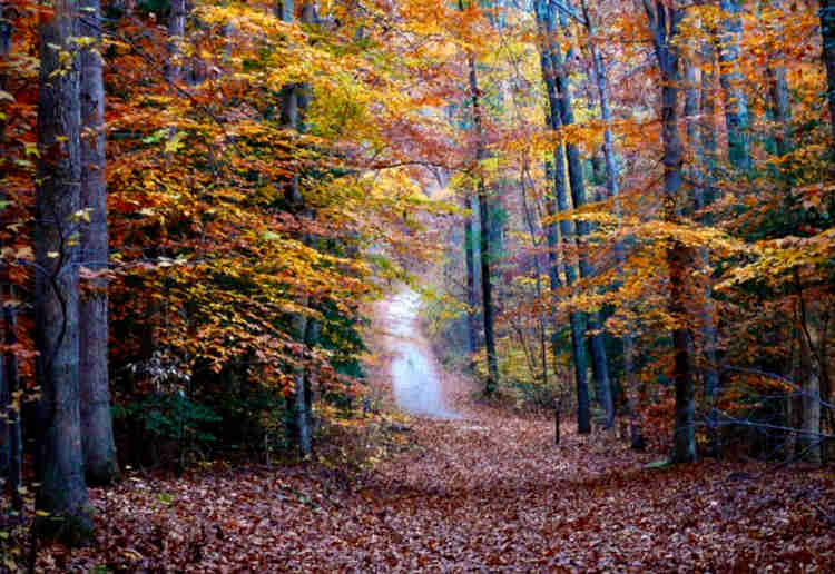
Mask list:
[[[81,265],[106,270],[107,185],[105,182],[105,86],[101,79],[100,0],[81,0],[81,36],[97,42],[81,51],[81,208],[89,222],[81,227]],[[107,372],[107,279],[95,278],[81,295],[79,321],[81,442],[88,484],[110,484],[119,477],[116,462],[110,386]]]

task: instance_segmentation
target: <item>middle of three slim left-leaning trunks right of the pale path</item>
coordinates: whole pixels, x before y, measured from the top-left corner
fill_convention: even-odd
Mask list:
[[[562,49],[553,38],[553,20],[557,10],[554,0],[549,1],[548,9],[548,44],[551,57],[551,68],[554,75],[554,85],[557,88],[558,109],[563,126],[570,126],[574,122],[574,111],[571,101],[571,91],[568,76],[562,63]],[[571,185],[571,199],[574,209],[586,205],[586,181],[583,179],[582,162],[580,160],[580,149],[574,144],[566,145],[566,157],[568,158],[568,178]],[[595,269],[589,261],[586,237],[589,235],[590,226],[586,220],[578,220],[576,224],[574,240],[577,243],[578,260],[580,277],[593,277]],[[591,372],[595,376],[595,388],[597,399],[606,414],[606,428],[612,428],[615,424],[615,405],[611,396],[611,382],[609,380],[609,364],[606,357],[606,346],[603,345],[603,335],[600,328],[600,315],[597,311],[588,313],[587,327],[591,331],[589,336],[589,347],[591,349]]]

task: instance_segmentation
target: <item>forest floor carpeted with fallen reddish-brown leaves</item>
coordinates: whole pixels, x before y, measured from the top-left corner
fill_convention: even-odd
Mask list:
[[[389,357],[391,360],[391,357]],[[313,459],[204,465],[92,489],[98,544],[42,548],[47,572],[833,572],[832,471],[759,462],[647,466],[613,436],[478,400],[460,418],[382,412],[325,428]]]

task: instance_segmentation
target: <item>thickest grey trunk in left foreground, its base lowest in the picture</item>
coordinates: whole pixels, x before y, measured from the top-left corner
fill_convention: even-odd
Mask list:
[[[58,0],[55,10],[40,28],[35,311],[41,486],[36,507],[49,513],[40,521],[41,534],[78,543],[92,535],[79,412],[78,247],[71,240],[81,207],[81,110],[78,58],[62,63],[61,52],[76,50],[79,6]]]

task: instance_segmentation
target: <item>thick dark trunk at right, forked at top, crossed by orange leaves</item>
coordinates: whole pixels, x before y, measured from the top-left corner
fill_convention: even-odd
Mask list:
[[[652,43],[661,75],[661,136],[664,140],[664,209],[668,221],[678,220],[677,202],[681,192],[681,138],[678,131],[678,71],[679,55],[675,40],[684,10],[664,0],[642,0],[649,19]],[[672,462],[689,463],[696,459],[695,408],[690,334],[685,326],[686,281],[689,271],[690,249],[674,240],[667,249],[670,276],[669,311],[681,323],[672,330],[675,353],[674,380],[676,385],[676,415],[672,437]]]

